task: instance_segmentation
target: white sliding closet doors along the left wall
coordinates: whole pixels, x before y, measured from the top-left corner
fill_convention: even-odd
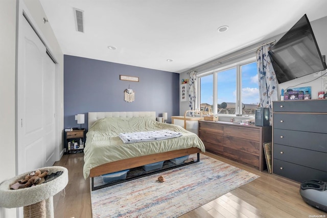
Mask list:
[[[55,151],[55,70],[27,20],[20,24],[17,72],[18,174],[52,165]],[[50,68],[50,70],[48,69]]]

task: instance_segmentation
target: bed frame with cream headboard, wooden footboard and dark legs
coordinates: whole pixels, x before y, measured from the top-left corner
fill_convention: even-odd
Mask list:
[[[92,124],[97,120],[104,117],[138,117],[138,116],[150,116],[154,120],[156,119],[155,111],[134,111],[134,112],[89,112],[88,113],[88,128],[92,126]],[[109,162],[102,164],[100,166],[96,166],[94,168],[90,169],[89,177],[91,177],[92,180],[92,190],[100,189],[103,187],[110,186],[108,185],[101,185],[101,186],[94,186],[94,177],[114,173],[118,171],[123,171],[124,169],[130,169],[135,168],[139,166],[143,166],[150,163],[170,160],[173,158],[178,158],[181,156],[191,155],[191,154],[197,154],[197,160],[190,162],[198,162],[200,161],[200,152],[201,150],[199,148],[189,148],[189,149],[181,149],[181,150],[175,150],[170,152],[164,152],[159,154],[152,154],[152,155],[146,155],[142,157],[134,157],[134,158],[128,158],[124,160],[118,160],[114,162]],[[190,164],[188,163],[188,164]],[[186,164],[181,164],[186,165]],[[181,166],[178,165],[177,167]],[[170,169],[170,168],[168,168]],[[166,169],[166,170],[168,170]],[[158,171],[160,172],[160,171]],[[153,172],[151,174],[154,174],[157,172]],[[149,175],[149,174],[148,174]],[[136,179],[136,178],[132,178]],[[116,183],[114,183],[116,184]]]

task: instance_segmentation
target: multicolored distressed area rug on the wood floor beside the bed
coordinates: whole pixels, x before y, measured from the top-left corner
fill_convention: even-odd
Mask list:
[[[177,217],[258,177],[201,155],[197,163],[91,191],[92,216]]]

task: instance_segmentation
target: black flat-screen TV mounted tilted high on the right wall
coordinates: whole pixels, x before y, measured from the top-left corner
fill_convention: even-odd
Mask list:
[[[326,68],[306,14],[271,47],[269,55],[278,83]]]

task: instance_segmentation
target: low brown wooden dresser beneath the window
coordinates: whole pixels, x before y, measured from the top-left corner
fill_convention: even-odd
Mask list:
[[[263,171],[263,143],[271,141],[271,127],[199,120],[199,137],[208,152],[222,155]]]

